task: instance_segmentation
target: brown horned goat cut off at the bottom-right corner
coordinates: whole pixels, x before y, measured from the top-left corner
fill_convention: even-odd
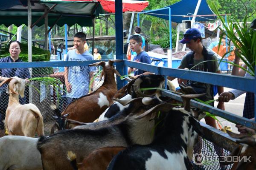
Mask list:
[[[236,142],[241,144],[236,147],[230,156],[240,156],[241,161],[237,162],[220,162],[223,165],[233,164],[231,170],[255,170],[256,169],[256,135],[249,136],[245,134],[236,134],[229,130],[227,133],[233,137],[237,138]],[[242,159],[243,156],[246,156]],[[239,158],[239,159],[240,159]],[[245,161],[246,160],[246,161]]]

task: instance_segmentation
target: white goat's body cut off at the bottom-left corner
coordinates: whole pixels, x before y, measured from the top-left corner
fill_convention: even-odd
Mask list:
[[[41,170],[39,138],[4,136],[0,138],[0,170]]]

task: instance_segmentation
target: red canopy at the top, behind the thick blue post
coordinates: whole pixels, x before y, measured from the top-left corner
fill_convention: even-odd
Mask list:
[[[107,12],[115,12],[115,0],[99,0],[103,9]],[[134,11],[140,12],[143,11],[148,6],[148,1],[139,1],[139,0],[122,0],[122,12]]]

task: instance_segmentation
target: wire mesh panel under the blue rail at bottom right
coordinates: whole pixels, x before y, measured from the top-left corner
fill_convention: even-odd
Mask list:
[[[198,155],[198,153],[200,153],[199,157],[201,159],[195,156]],[[220,165],[218,159],[218,156],[228,155],[230,155],[229,150],[225,150],[207,139],[199,137],[199,141],[194,147],[195,158],[192,161],[193,170],[230,170],[233,164],[223,166]]]

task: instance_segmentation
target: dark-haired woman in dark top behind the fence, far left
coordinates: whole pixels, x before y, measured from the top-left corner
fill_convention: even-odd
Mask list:
[[[0,59],[0,63],[4,62],[23,62],[20,58],[21,46],[20,42],[12,41],[9,45],[10,56]],[[8,79],[9,77],[19,77],[21,79],[27,79],[26,82],[29,82],[30,78],[28,68],[0,68],[0,82]],[[9,95],[6,93],[7,84],[4,84],[0,87],[0,137],[4,136],[4,123],[6,108],[8,106]],[[20,98],[20,104],[26,104],[26,89],[24,98]]]

